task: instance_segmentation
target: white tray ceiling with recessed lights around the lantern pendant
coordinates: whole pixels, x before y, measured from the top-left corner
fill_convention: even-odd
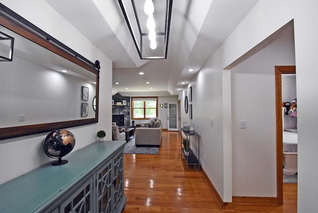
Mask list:
[[[46,1],[112,60],[123,96],[178,95],[258,2],[173,0],[167,59],[142,60],[118,0]]]

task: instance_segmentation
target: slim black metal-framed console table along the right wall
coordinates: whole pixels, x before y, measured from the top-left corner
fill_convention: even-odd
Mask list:
[[[189,139],[189,144],[191,144],[191,137],[197,137],[198,138],[198,158],[195,156],[194,152],[191,150],[190,145],[188,147],[188,155],[185,154],[184,147],[183,147],[183,137],[181,137],[181,155],[184,156],[185,162],[187,164],[187,170],[188,170],[188,164],[196,164],[198,165],[198,168],[200,170],[200,135],[196,132],[194,134],[190,134],[189,131],[184,131],[183,128],[181,128],[181,133],[185,134],[186,138]]]

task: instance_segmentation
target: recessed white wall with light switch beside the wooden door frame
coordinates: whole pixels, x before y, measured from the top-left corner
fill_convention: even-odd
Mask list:
[[[233,196],[276,197],[276,65],[295,65],[293,32],[231,69]]]

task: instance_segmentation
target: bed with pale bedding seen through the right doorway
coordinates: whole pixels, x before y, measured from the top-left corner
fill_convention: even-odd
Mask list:
[[[297,133],[283,131],[284,175],[295,175],[297,173],[297,142]]]

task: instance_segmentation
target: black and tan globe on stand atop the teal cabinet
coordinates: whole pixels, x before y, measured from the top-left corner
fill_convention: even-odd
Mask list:
[[[75,137],[66,129],[53,130],[46,136],[43,146],[47,156],[59,159],[52,163],[53,166],[66,164],[68,161],[61,158],[73,150]]]

